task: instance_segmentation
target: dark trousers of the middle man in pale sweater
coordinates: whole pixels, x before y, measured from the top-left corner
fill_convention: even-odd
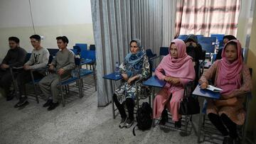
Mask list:
[[[44,75],[34,71],[33,72],[33,78],[36,79],[43,79]],[[17,82],[18,82],[18,89],[20,92],[20,96],[24,95],[26,93],[26,83],[31,82],[31,72],[29,70],[23,70],[21,73],[18,74]]]

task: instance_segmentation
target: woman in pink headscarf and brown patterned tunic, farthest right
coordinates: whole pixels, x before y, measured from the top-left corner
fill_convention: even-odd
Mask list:
[[[239,143],[236,126],[245,121],[242,102],[244,94],[250,92],[250,71],[242,63],[241,44],[238,40],[228,41],[221,56],[221,60],[217,60],[203,73],[199,83],[202,89],[206,89],[208,80],[212,79],[215,87],[223,89],[220,100],[208,101],[208,118],[225,136],[223,143]]]

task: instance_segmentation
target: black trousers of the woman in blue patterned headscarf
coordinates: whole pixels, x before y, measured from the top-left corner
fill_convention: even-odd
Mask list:
[[[114,104],[117,106],[117,109],[121,115],[121,118],[127,118],[127,114],[124,110],[124,104],[127,106],[129,119],[134,120],[134,101],[131,98],[127,98],[123,104],[120,104],[117,100],[117,95],[113,95]]]

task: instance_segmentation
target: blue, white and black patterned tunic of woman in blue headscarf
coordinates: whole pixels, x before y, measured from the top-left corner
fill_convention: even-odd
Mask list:
[[[127,65],[129,64],[122,64],[119,66],[119,70],[121,73],[127,74]],[[144,57],[140,60],[139,65],[142,65],[142,71],[138,72],[139,79],[143,78],[146,79],[149,77],[150,68],[149,68],[149,59],[144,55]],[[135,75],[131,77],[134,77]],[[142,83],[138,83],[138,94],[140,94],[142,90]],[[132,84],[128,84],[127,82],[122,83],[114,92],[117,95],[117,100],[120,104],[122,104],[127,98],[132,98],[133,100],[136,99],[136,86],[135,81]]]

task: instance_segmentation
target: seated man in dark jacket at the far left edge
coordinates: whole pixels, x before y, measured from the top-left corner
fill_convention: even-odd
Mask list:
[[[14,98],[9,94],[12,78],[9,67],[21,67],[26,59],[26,50],[19,47],[19,39],[16,37],[9,38],[9,47],[6,57],[1,62],[0,69],[0,87],[4,89],[6,101]]]

